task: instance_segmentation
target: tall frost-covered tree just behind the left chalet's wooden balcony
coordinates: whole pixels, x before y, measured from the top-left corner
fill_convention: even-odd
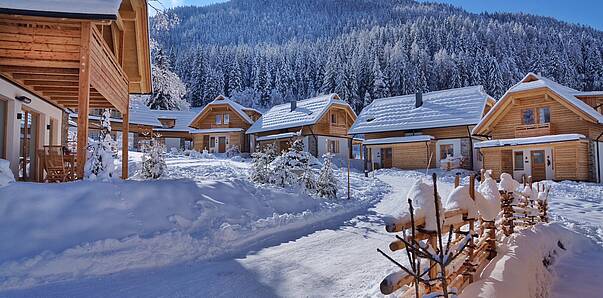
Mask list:
[[[147,105],[155,110],[187,110],[188,102],[184,100],[186,87],[178,75],[170,70],[168,56],[161,48],[157,48],[151,65],[153,94]]]

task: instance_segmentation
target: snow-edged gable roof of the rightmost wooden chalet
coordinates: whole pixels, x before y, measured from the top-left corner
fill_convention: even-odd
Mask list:
[[[484,116],[484,118],[473,128],[472,133],[478,134],[481,130],[483,130],[484,126],[493,121],[493,117],[500,113],[500,109],[510,100],[510,95],[517,92],[523,92],[528,90],[535,90],[540,88],[547,88],[551,90],[553,93],[557,94],[560,99],[565,101],[565,103],[570,106],[576,108],[580,112],[585,115],[591,117],[596,123],[603,124],[603,115],[593,107],[589,106],[582,100],[578,99],[576,96],[585,96],[585,95],[595,95],[598,94],[599,91],[591,91],[591,92],[582,92],[576,89],[572,89],[567,86],[563,86],[549,78],[543,77],[541,75],[534,74],[529,72],[528,74],[519,81],[519,83],[511,86],[507,92],[501,97],[501,99],[490,109],[488,114]]]

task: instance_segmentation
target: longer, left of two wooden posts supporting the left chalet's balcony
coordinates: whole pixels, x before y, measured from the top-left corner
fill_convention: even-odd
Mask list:
[[[77,109],[77,177],[84,177],[84,165],[88,153],[88,114],[90,108],[90,40],[91,23],[82,22],[80,71]]]

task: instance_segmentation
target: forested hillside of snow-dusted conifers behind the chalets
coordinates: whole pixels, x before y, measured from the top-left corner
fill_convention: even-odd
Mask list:
[[[180,23],[153,37],[193,106],[219,94],[266,108],[337,92],[359,111],[477,84],[499,97],[528,71],[603,89],[603,32],[552,18],[404,0],[232,0],[170,13]]]

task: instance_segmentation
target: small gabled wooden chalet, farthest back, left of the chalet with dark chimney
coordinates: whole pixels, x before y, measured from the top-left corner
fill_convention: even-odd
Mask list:
[[[249,153],[249,137],[245,131],[262,116],[224,96],[208,103],[190,122],[193,147],[197,151],[225,153],[229,147]]]

